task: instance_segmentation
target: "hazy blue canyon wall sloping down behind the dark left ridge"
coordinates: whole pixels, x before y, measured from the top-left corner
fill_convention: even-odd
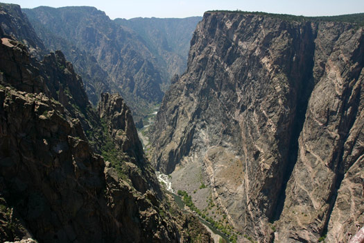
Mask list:
[[[105,12],[93,7],[39,7],[24,12],[49,44],[48,48],[67,49],[67,57],[83,73],[91,75],[92,70],[77,61],[80,57],[73,55],[72,50],[82,51],[86,59],[93,57],[106,72],[105,78],[110,78],[110,89],[122,95],[138,120],[149,106],[162,100],[162,77],[144,40],[129,28],[112,22]],[[54,40],[47,32],[64,40]]]

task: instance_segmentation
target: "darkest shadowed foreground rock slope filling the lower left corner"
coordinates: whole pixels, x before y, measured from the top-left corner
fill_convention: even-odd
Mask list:
[[[21,51],[4,42],[1,49]],[[7,71],[1,65],[2,85],[12,83]],[[8,217],[5,221],[12,224],[1,240],[29,235],[40,242],[144,242],[153,238],[159,216],[152,204],[119,181],[115,169],[92,151],[80,121],[68,117],[64,106],[43,92],[15,87],[2,87],[0,95],[2,209],[3,217]],[[148,227],[151,235],[138,232]],[[177,240],[177,229],[162,231],[161,239],[172,240],[173,235]]]

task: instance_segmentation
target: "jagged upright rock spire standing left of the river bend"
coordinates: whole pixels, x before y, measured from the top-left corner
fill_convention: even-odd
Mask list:
[[[131,112],[119,94],[101,94],[98,103],[98,114],[105,123],[106,132],[110,134],[116,151],[122,151],[119,157],[130,158],[130,161],[118,166],[118,169],[127,174],[132,185],[140,192],[145,193],[150,187],[162,199],[162,192],[155,177],[154,170],[144,156],[143,146],[139,141],[137,128],[132,119]]]

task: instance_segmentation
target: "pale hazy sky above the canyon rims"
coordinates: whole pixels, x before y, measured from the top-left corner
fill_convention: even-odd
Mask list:
[[[322,16],[364,12],[364,0],[10,0],[22,8],[94,6],[111,19],[122,17],[190,17],[207,10],[244,10]]]

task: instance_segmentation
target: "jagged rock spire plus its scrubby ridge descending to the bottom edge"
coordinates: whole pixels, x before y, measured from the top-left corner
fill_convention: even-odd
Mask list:
[[[162,192],[155,171],[144,156],[131,112],[120,95],[102,94],[98,103],[98,113],[106,123],[104,126],[116,145],[116,151],[119,151],[118,158],[123,160],[121,165],[114,161],[112,167],[122,174],[123,179],[127,176],[126,180],[130,185],[144,193],[147,200],[153,204],[157,203],[158,208],[155,210],[158,209],[157,212],[162,215],[162,220],[153,221],[151,224],[164,226],[168,224],[167,233],[173,235],[177,231],[177,242],[214,242],[197,217],[180,212],[173,197]],[[161,232],[154,225],[152,231],[155,233],[154,237],[161,242],[175,242],[173,237],[161,237]],[[142,242],[149,241],[150,239],[146,238],[142,240]]]

